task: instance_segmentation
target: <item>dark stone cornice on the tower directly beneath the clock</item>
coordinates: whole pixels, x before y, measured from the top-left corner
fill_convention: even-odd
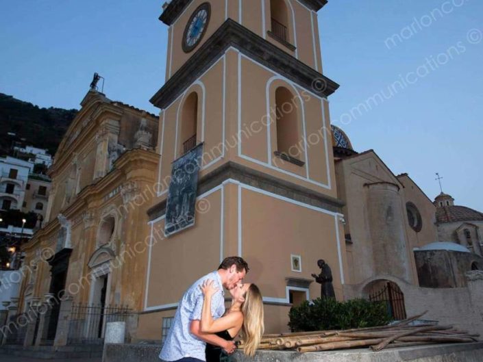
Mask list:
[[[324,85],[323,90],[317,89],[321,96],[329,96],[339,87],[336,82],[317,72],[317,70],[310,68],[307,64],[300,62],[292,55],[229,18],[164,83],[164,86],[151,98],[151,103],[160,109],[164,109],[230,47],[238,49],[247,57],[271,68],[276,73],[284,75],[310,92],[316,92],[313,89],[316,80],[318,88],[321,84]]]

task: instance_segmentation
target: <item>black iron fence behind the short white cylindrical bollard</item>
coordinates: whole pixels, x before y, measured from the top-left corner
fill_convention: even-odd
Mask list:
[[[131,309],[122,306],[104,307],[73,303],[67,343],[101,344],[106,323],[127,322],[131,314]]]

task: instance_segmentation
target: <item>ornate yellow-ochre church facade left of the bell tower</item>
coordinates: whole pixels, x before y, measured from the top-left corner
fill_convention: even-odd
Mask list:
[[[153,114],[97,90],[91,89],[81,105],[49,168],[47,215],[23,246],[20,300],[9,306],[13,323],[20,313],[34,316],[26,331],[10,331],[23,334],[25,346],[66,344],[67,335],[101,337],[102,320],[86,315],[98,313],[95,308],[99,315],[108,313],[101,309],[114,305],[136,309],[143,293],[132,276],[145,274],[138,257],[149,243],[149,194],[144,198],[141,192],[155,182],[158,122]],[[86,324],[74,331],[73,305],[84,311],[77,318],[90,329]],[[61,326],[63,319],[70,322]]]

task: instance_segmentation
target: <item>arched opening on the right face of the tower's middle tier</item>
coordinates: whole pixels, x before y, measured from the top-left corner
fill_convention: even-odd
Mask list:
[[[296,97],[287,88],[279,87],[275,90],[277,151],[299,159],[299,121],[295,102]]]

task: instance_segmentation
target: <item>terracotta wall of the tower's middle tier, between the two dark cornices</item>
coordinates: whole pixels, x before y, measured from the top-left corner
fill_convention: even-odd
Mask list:
[[[288,107],[297,109],[299,131],[305,135],[297,146],[304,166],[296,166],[273,155],[277,137],[275,90],[280,86],[294,95],[293,103]],[[180,156],[181,111],[184,99],[191,92],[197,92],[199,99],[197,141],[205,141],[200,177],[223,162],[233,160],[285,181],[336,196],[332,147],[330,135],[327,137],[326,132],[330,125],[327,101],[230,50],[161,112],[158,144],[162,156],[158,181],[162,198],[169,186],[171,162]],[[267,124],[270,138],[267,138]]]

